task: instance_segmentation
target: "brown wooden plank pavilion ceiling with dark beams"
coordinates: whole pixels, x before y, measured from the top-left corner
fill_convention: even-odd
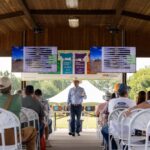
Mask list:
[[[118,26],[150,31],[150,0],[79,0],[68,9],[65,0],[1,0],[0,33],[41,27],[66,27],[76,16],[81,27]]]

